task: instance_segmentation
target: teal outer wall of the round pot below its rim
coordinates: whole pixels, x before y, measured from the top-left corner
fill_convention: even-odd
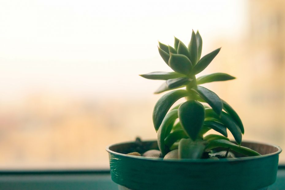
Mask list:
[[[111,146],[110,149],[124,150],[124,147],[128,148],[130,144],[115,145],[113,149]],[[129,156],[109,150],[108,152],[112,181],[130,189],[254,190],[275,182],[281,149],[276,154],[241,160],[163,161],[159,158]]]

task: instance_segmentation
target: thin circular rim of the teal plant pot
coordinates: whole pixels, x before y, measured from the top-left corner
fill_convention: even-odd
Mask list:
[[[155,142],[156,140],[146,140],[143,142],[150,143],[150,142]],[[152,161],[163,161],[163,162],[241,162],[244,160],[253,160],[253,159],[259,159],[259,158],[265,158],[269,156],[273,156],[276,154],[280,154],[282,149],[280,146],[270,144],[270,143],[260,143],[260,142],[253,142],[253,141],[242,141],[242,143],[255,143],[255,144],[260,144],[260,145],[268,145],[277,148],[278,150],[276,152],[270,153],[270,154],[264,154],[264,155],[259,155],[259,156],[249,156],[249,157],[241,157],[241,158],[222,158],[222,159],[172,159],[172,160],[163,160],[163,158],[150,158],[150,157],[143,157],[143,156],[134,156],[134,155],[127,155],[127,154],[122,154],[115,152],[113,150],[110,150],[110,147],[112,146],[119,146],[123,144],[128,144],[128,143],[134,143],[134,141],[128,141],[128,142],[123,142],[123,143],[116,143],[116,144],[111,144],[106,147],[106,150],[108,153],[112,154],[117,154],[120,156],[124,157],[129,157],[129,158],[137,158],[137,159],[142,159],[142,160],[152,160]]]

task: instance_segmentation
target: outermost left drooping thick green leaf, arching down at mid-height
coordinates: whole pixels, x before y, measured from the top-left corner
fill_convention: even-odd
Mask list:
[[[162,123],[163,118],[170,109],[170,107],[180,98],[188,95],[186,90],[174,90],[163,95],[155,104],[152,119],[154,128],[158,131],[159,126]]]

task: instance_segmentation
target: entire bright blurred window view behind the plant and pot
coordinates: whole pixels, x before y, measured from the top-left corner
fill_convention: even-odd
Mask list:
[[[285,6],[278,3],[2,0],[0,169],[106,169],[107,145],[155,139],[151,115],[161,95],[153,92],[161,81],[139,74],[170,71],[157,40],[188,43],[192,29],[202,35],[203,55],[223,47],[203,74],[237,77],[207,87],[239,113],[244,139],[285,147],[284,48],[276,45],[285,44]]]

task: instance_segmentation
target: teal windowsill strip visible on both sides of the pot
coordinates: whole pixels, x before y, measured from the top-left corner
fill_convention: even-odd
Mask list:
[[[19,174],[1,174],[0,189],[1,190],[118,190],[118,186],[111,180],[110,174],[97,174],[96,172],[84,174],[78,172],[74,174],[29,174],[29,172]],[[75,179],[75,180],[74,180]],[[274,184],[269,186],[268,190],[284,190],[285,189],[285,167],[277,172],[277,179]]]

